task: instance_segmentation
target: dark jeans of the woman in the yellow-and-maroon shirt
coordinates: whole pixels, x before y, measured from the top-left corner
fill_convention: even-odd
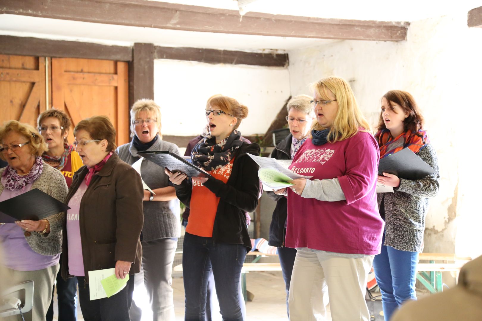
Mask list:
[[[62,263],[61,263],[62,265]],[[77,320],[77,278],[70,278],[67,281],[62,279],[61,270],[57,273],[57,302],[59,308],[59,321],[76,321]],[[47,310],[45,319],[52,321],[54,318],[54,288],[52,289],[52,302]]]

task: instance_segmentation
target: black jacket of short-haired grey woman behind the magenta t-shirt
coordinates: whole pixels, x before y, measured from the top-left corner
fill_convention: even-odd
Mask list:
[[[293,135],[289,134],[286,139],[281,141],[271,153],[272,158],[276,159],[291,159],[291,144]],[[284,223],[288,216],[288,208],[286,197],[277,195],[274,192],[266,192],[270,198],[275,200],[276,207],[273,211],[271,224],[269,225],[269,240],[268,244],[271,246],[283,247],[286,229]]]

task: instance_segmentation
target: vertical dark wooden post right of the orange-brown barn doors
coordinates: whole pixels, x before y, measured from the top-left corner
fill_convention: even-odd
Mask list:
[[[129,64],[129,106],[139,99],[154,99],[154,45],[134,43]]]

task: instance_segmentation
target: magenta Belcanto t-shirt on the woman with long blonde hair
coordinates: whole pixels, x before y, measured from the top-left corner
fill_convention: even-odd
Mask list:
[[[312,180],[337,178],[346,200],[303,198],[288,189],[286,246],[379,254],[384,222],[376,203],[378,160],[378,145],[370,133],[320,146],[305,141],[289,168]]]

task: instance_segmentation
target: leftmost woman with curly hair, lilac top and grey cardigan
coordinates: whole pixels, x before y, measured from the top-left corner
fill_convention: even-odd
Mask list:
[[[32,189],[64,202],[67,185],[63,175],[48,166],[41,155],[47,145],[32,126],[11,120],[0,128],[0,157],[8,166],[0,169],[0,202]],[[52,301],[52,287],[59,270],[64,212],[40,220],[15,221],[0,214],[0,262],[7,271],[2,278],[13,284],[32,280],[33,308],[26,320],[44,321]],[[13,285],[12,284],[12,285]]]

